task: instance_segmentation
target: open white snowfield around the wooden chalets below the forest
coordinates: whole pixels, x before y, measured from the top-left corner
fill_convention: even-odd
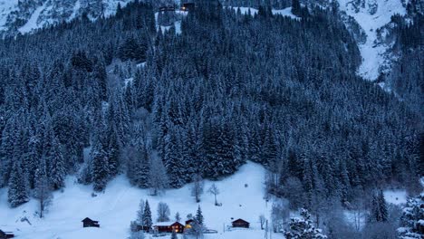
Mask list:
[[[247,163],[239,171],[226,179],[216,182],[220,190],[217,196],[222,206],[214,206],[214,196],[207,194],[212,182],[205,183],[205,194],[201,196],[203,215],[208,228],[218,234],[207,234],[207,239],[248,239],[263,238],[265,231],[260,230],[258,217],[264,214],[270,218],[272,202],[264,200],[264,167]],[[38,239],[84,239],[127,238],[130,221],[134,220],[140,199],[148,199],[153,220],[156,222],[156,209],[159,202],[169,205],[171,218],[179,212],[182,220],[189,213],[195,214],[198,204],[190,196],[190,185],[169,190],[164,196],[149,196],[149,190],[130,186],[126,177],[117,177],[107,186],[106,192],[92,197],[92,186],[74,183],[74,177],[68,177],[63,192],[54,193],[53,204],[44,219],[37,218],[37,202],[11,209],[5,203],[7,191],[0,190],[0,229],[13,231],[18,238]],[[31,225],[22,219],[26,216]],[[86,216],[100,221],[100,228],[82,228],[82,219]],[[251,223],[250,229],[224,232],[224,226],[230,225],[231,218],[243,218]],[[149,237],[148,237],[149,238]],[[161,237],[169,238],[169,237]],[[282,234],[273,234],[273,238],[283,238]]]

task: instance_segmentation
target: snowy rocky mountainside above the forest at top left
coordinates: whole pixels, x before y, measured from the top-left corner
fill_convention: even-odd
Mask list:
[[[87,13],[92,19],[116,12],[132,0],[0,0],[0,32],[29,33],[47,25],[70,21]]]

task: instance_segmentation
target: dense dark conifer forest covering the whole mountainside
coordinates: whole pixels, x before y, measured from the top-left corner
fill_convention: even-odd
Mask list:
[[[336,9],[301,8],[294,20],[269,5],[251,15],[203,3],[179,32],[158,31],[154,7],[136,1],[110,18],[2,40],[0,187],[10,206],[63,188],[68,175],[101,192],[125,174],[159,194],[246,160],[270,170],[267,192],[314,214],[320,201],[346,205],[381,186],[419,192],[422,15],[396,30],[397,95],[356,74],[361,55]]]

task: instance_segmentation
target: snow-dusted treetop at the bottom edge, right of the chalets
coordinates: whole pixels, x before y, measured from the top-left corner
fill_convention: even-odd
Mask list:
[[[284,232],[287,239],[324,239],[326,235],[322,234],[321,229],[313,226],[311,215],[308,210],[301,209],[301,218],[294,217],[290,221],[290,229]]]

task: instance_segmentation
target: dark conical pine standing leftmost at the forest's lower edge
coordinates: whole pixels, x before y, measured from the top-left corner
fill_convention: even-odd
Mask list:
[[[7,202],[9,202],[12,207],[20,206],[29,201],[25,179],[22,176],[21,165],[19,161],[15,161],[10,174],[9,188],[7,191]]]

